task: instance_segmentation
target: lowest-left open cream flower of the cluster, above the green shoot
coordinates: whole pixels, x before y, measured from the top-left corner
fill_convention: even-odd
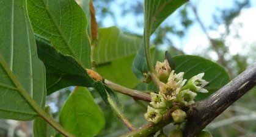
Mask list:
[[[163,115],[161,114],[160,110],[150,106],[148,106],[147,113],[144,114],[144,117],[147,119],[147,121],[153,122],[155,124],[163,119]]]

